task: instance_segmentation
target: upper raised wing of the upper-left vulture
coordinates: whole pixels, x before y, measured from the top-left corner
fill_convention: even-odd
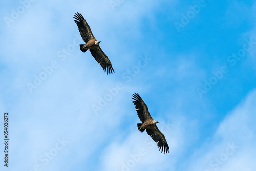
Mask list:
[[[93,36],[93,33],[91,31],[90,26],[88,25],[88,23],[86,22],[86,20],[83,18],[82,14],[80,13],[76,13],[75,14],[75,18],[76,20],[74,20],[78,26],[79,32],[81,34],[81,37],[83,39],[84,42],[88,42],[91,39],[95,39]]]

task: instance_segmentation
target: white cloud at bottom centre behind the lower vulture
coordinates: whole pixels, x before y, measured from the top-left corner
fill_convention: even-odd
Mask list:
[[[136,123],[132,125],[130,134],[123,141],[113,139],[113,143],[106,147],[102,157],[105,170],[175,170],[177,160],[197,137],[194,132],[197,124],[193,121],[189,123],[179,116],[174,122],[160,121],[159,130],[165,135],[170,148],[169,153],[164,154],[146,132],[139,132]],[[192,130],[194,135],[191,135]]]

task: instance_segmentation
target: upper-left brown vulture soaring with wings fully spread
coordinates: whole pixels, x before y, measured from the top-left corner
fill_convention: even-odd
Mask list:
[[[78,26],[81,37],[83,41],[86,42],[86,44],[80,44],[80,50],[82,52],[86,52],[89,49],[92,56],[101,65],[101,67],[103,68],[103,70],[106,72],[107,75],[110,73],[112,74],[112,72],[115,72],[114,69],[112,68],[112,65],[108,56],[106,56],[106,54],[99,47],[99,43],[101,41],[97,41],[96,38],[93,36],[91,28],[86,22],[86,20],[78,12],[74,16],[75,17],[73,18],[75,18],[74,21]]]

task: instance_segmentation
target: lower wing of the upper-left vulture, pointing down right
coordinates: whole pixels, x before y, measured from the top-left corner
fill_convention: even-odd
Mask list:
[[[95,60],[101,65],[101,67],[104,69],[106,74],[112,74],[112,72],[115,72],[112,68],[111,62],[106,56],[106,54],[101,50],[101,48],[98,46],[97,49],[90,49],[91,54],[95,58]]]

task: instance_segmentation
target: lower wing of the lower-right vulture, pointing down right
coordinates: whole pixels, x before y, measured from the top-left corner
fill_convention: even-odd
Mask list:
[[[146,129],[146,132],[148,135],[151,136],[151,138],[155,141],[158,142],[157,146],[159,147],[159,151],[162,148],[161,153],[169,153],[169,146],[167,144],[167,141],[163,135],[163,133],[161,133],[161,131],[158,130],[157,125],[155,125],[154,129]]]

